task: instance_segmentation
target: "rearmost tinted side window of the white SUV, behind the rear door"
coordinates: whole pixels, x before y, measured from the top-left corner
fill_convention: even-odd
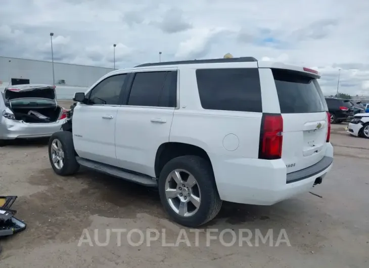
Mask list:
[[[257,68],[198,69],[196,78],[204,109],[262,112]]]

